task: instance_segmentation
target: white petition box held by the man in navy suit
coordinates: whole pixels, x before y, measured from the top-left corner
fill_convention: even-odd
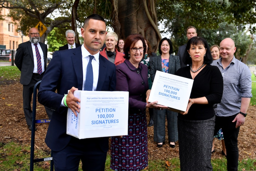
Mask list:
[[[128,134],[129,92],[82,91],[78,116],[68,109],[67,134],[78,139],[111,137]]]

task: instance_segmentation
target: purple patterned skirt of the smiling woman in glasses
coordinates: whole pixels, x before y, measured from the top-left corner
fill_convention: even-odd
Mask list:
[[[128,135],[111,137],[110,169],[139,171],[148,165],[148,131],[146,113],[130,113]]]

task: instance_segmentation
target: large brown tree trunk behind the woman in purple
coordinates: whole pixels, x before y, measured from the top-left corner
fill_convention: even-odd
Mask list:
[[[115,23],[113,28],[118,34],[118,38],[125,39],[130,34],[138,33],[150,42],[153,51],[157,51],[161,35],[157,29],[154,2],[155,0],[112,0],[114,6],[112,19]],[[116,21],[115,9],[118,10],[118,21]],[[118,28],[118,23],[120,23],[121,29]]]

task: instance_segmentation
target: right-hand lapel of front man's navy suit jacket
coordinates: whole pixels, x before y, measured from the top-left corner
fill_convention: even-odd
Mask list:
[[[99,54],[99,79],[98,79],[96,91],[102,90],[102,86],[106,78],[107,66],[106,66],[105,60],[107,59],[105,59],[105,57]]]

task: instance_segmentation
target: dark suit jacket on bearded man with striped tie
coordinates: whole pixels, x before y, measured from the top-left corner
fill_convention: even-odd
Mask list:
[[[45,69],[46,69],[47,45],[41,42],[39,42],[39,44],[44,54]],[[19,47],[16,51],[14,62],[15,62],[15,65],[21,71],[20,83],[23,85],[28,85],[31,81],[33,70],[34,70],[34,57],[33,57],[33,51],[32,51],[32,46],[30,41],[19,44]]]

